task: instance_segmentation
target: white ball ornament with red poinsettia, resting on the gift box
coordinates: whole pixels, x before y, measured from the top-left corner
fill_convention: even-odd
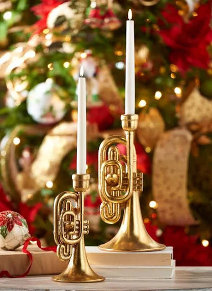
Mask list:
[[[30,238],[26,220],[17,212],[0,212],[0,248],[14,250]]]

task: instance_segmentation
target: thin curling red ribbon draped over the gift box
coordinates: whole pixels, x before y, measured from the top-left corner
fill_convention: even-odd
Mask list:
[[[33,256],[31,254],[31,252],[28,251],[28,246],[29,246],[30,242],[36,242],[37,246],[43,251],[54,251],[54,252],[57,251],[57,246],[41,247],[41,242],[38,238],[36,238],[36,237],[29,238],[25,241],[25,243],[23,244],[23,248],[22,248],[22,252],[25,253],[26,255],[28,255],[28,257],[30,259],[30,266],[28,267],[28,269],[23,274],[17,275],[17,276],[12,276],[7,270],[3,270],[0,272],[0,278],[4,277],[4,276],[9,277],[9,278],[22,278],[22,277],[25,277],[29,274],[30,269],[31,269],[32,264],[33,264]]]

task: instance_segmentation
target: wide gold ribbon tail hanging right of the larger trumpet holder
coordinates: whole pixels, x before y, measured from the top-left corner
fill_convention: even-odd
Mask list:
[[[198,223],[187,199],[191,143],[192,134],[187,129],[174,129],[163,133],[155,147],[152,190],[158,218],[168,225]]]

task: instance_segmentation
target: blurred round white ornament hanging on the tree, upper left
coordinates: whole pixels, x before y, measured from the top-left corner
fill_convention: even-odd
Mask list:
[[[51,81],[36,85],[27,98],[27,111],[41,124],[54,124],[65,115],[66,103],[59,96],[62,88]]]

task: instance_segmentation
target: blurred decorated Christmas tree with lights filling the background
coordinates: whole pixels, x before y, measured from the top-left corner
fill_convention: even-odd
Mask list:
[[[144,222],[153,239],[174,246],[178,265],[212,265],[210,1],[3,1],[0,211],[19,212],[31,234],[54,243],[54,199],[71,189],[76,172],[76,83],[83,66],[87,244],[117,231],[99,217],[98,147],[105,136],[122,133],[129,8]]]

